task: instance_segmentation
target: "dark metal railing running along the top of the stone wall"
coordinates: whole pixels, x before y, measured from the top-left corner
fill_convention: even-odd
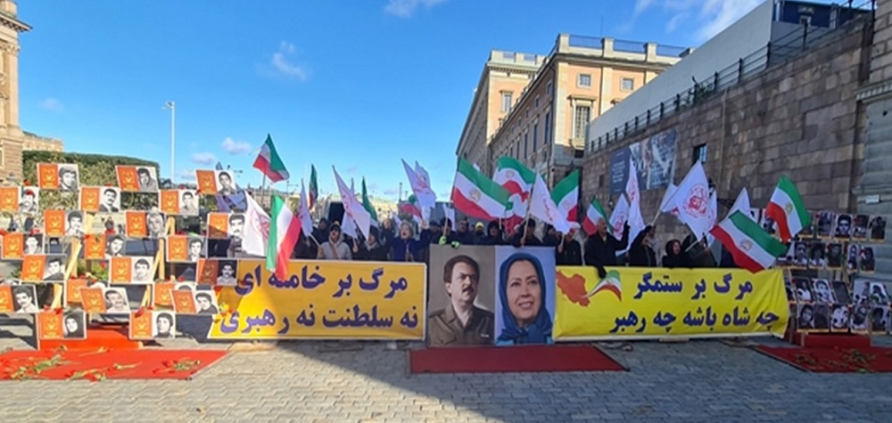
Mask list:
[[[872,3],[870,1],[867,3],[871,4],[871,9],[865,10],[860,6],[857,8],[865,12],[872,11]],[[791,31],[789,34],[769,42],[768,45],[756,50],[756,52],[750,53],[746,57],[741,57],[728,67],[714,72],[712,77],[709,77],[707,80],[694,80],[694,84],[690,88],[673,95],[663,102],[659,102],[656,106],[645,110],[635,118],[629,119],[623,125],[599,134],[597,137],[592,138],[591,141],[587,140],[588,145],[585,146],[585,150],[590,152],[597,151],[606,148],[614,142],[622,141],[628,136],[639,134],[648,126],[656,124],[681,110],[686,110],[700,102],[704,102],[724,89],[739,85],[747,79],[761,74],[766,69],[797,58],[816,47],[827,44],[832,39],[849,34],[855,28],[862,28],[864,24],[871,24],[872,20],[872,13],[865,13],[855,20],[849,20],[836,30],[814,28],[812,32],[809,32],[810,27],[804,25],[802,27],[803,30]],[[812,37],[813,35],[814,37]]]

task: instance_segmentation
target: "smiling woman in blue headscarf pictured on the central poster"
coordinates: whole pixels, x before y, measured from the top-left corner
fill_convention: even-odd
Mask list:
[[[496,345],[553,343],[546,298],[539,259],[526,253],[508,257],[499,273],[502,328]]]

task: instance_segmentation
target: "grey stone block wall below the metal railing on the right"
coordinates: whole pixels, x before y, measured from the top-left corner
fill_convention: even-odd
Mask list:
[[[850,22],[819,46],[715,92],[637,134],[588,152],[582,171],[582,203],[597,196],[603,204],[612,205],[616,197],[610,196],[611,155],[674,128],[678,134],[674,183],[680,183],[695,160],[701,159],[720,199],[720,217],[744,187],[753,207],[765,207],[780,175],[797,183],[810,209],[855,212],[858,197],[853,190],[862,181],[866,125],[855,93],[868,82],[871,31],[869,16]],[[642,192],[646,220],[657,214],[664,192]],[[657,220],[657,233],[665,238],[686,230],[664,215]]]

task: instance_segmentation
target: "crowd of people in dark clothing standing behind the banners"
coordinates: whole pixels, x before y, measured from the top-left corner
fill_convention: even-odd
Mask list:
[[[384,219],[380,226],[369,230],[368,238],[360,233],[357,238],[343,233],[337,222],[321,219],[313,228],[312,238],[303,236],[293,250],[297,259],[368,260],[426,262],[431,245],[513,245],[515,247],[552,247],[558,265],[590,265],[603,273],[604,266],[632,265],[640,267],[716,267],[717,263],[706,240],[696,240],[692,235],[682,240],[669,240],[662,257],[657,253],[656,233],[647,226],[634,240],[629,240],[629,226],[617,239],[607,223],[599,221],[596,233],[586,236],[578,225],[569,233],[560,233],[549,224],[537,231],[536,221],[529,219],[510,233],[505,232],[499,221],[488,224],[471,224],[467,219],[458,221],[453,229],[449,219],[430,224],[403,221],[394,224]],[[537,234],[538,232],[538,234]],[[626,251],[625,254],[617,254]],[[736,267],[725,251],[723,267]],[[603,276],[603,274],[602,274]]]

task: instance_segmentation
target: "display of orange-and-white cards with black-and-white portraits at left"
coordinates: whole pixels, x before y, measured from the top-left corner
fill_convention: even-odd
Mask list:
[[[226,252],[221,240],[242,236],[244,214],[208,213],[201,235],[168,233],[166,222],[199,217],[201,195],[235,193],[233,173],[199,170],[197,189],[172,190],[160,189],[155,167],[117,166],[115,173],[117,186],[88,186],[80,181],[78,165],[41,163],[37,186],[0,187],[0,211],[13,222],[2,234],[0,261],[21,263],[19,274],[0,282],[0,313],[37,314],[44,339],[86,339],[89,316],[128,319],[134,339],[172,338],[178,314],[219,313],[214,287],[235,285],[237,261],[214,253]],[[78,209],[41,207],[47,191],[77,196]],[[157,201],[147,209],[126,209],[124,192]],[[14,224],[28,221],[30,227]],[[77,257],[73,239],[83,246]],[[165,241],[163,248],[158,240]],[[66,280],[66,270],[78,267],[73,262],[98,265],[107,277]],[[170,275],[160,281],[156,275],[165,265]],[[151,312],[145,305],[153,305]],[[64,313],[50,311],[59,306]]]

